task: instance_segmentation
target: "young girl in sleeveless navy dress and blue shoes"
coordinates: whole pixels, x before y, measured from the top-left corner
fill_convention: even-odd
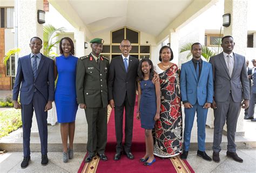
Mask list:
[[[138,67],[138,111],[137,119],[145,129],[146,154],[140,158],[144,165],[156,162],[153,155],[152,129],[155,121],[160,118],[160,83],[155,80],[153,63],[150,59],[143,59]]]

